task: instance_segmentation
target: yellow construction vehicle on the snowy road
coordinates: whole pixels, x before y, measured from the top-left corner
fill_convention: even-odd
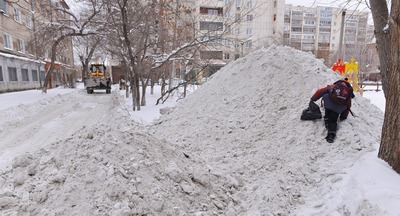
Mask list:
[[[106,90],[111,93],[111,78],[106,76],[106,66],[104,64],[91,64],[89,74],[84,78],[84,86],[88,94],[93,94],[94,90]]]

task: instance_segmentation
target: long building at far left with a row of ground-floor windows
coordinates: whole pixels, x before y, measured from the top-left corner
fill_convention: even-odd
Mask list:
[[[35,40],[37,25],[55,17],[55,7],[68,8],[63,0],[0,0],[0,92],[40,88],[49,66],[49,51],[39,53]],[[52,86],[62,85],[73,75],[72,40],[57,54]]]

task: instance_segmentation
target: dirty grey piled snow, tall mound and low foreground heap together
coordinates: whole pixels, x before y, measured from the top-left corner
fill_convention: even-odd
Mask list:
[[[356,95],[357,116],[339,124],[332,144],[322,120],[300,120],[314,91],[337,79],[310,53],[259,50],[149,127],[113,115],[15,158],[0,173],[0,213],[378,214],[368,200],[332,209],[326,185],[334,188],[354,158],[374,150],[382,112]]]

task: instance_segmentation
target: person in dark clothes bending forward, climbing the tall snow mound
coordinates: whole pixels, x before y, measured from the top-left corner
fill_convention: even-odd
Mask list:
[[[342,105],[333,101],[330,96],[329,92],[335,87],[335,85],[339,82],[343,82],[347,85],[350,89],[351,98],[348,100],[346,105]],[[337,131],[337,121],[347,119],[347,116],[350,112],[351,107],[351,99],[354,98],[353,87],[348,82],[348,79],[345,78],[344,80],[338,80],[333,85],[328,85],[324,88],[318,89],[314,95],[311,97],[311,101],[317,101],[318,99],[322,98],[323,106],[325,108],[325,128],[328,130],[328,134],[326,136],[326,141],[332,143],[336,138],[336,131]]]

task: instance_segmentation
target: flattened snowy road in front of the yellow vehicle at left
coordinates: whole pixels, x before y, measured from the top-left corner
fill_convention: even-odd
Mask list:
[[[52,91],[52,90],[50,90]],[[42,94],[38,91],[37,94]],[[43,97],[43,96],[42,96]],[[16,154],[67,139],[83,127],[106,122],[115,94],[83,89],[17,105],[0,113],[0,169]]]

